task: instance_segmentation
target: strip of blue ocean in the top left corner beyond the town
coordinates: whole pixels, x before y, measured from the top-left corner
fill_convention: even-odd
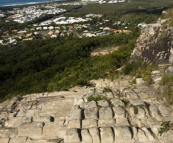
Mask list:
[[[0,6],[37,4],[37,3],[53,2],[53,1],[66,1],[66,0],[0,0]]]

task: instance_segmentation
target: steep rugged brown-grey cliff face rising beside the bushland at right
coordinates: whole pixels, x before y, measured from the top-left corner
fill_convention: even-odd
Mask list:
[[[147,64],[172,63],[173,28],[148,24],[139,36],[131,60],[142,59]]]

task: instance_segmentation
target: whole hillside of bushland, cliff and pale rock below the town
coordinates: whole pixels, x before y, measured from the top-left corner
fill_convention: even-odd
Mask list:
[[[173,143],[173,9],[162,10],[123,13],[128,34],[0,46],[0,142]]]

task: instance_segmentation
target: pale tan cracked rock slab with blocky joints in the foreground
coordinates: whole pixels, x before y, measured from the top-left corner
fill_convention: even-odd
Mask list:
[[[88,102],[98,94],[81,88],[0,103],[0,143],[172,143],[172,131],[158,131],[173,109],[151,87],[128,83],[102,81],[92,89],[107,97],[99,101]]]

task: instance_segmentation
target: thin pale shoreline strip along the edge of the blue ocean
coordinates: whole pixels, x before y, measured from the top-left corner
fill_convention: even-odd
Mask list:
[[[29,3],[19,3],[19,4],[9,4],[9,5],[0,5],[0,8],[1,7],[16,7],[16,6],[25,6],[25,5],[36,5],[36,4],[45,4],[45,3],[55,3],[55,2],[75,2],[77,0],[45,0],[45,1],[42,1],[42,2],[29,2]]]

